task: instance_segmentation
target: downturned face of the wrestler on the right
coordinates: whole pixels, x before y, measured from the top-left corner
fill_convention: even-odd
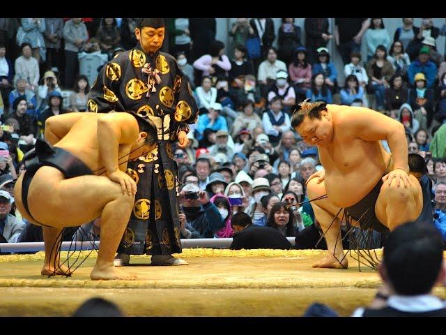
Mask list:
[[[295,130],[307,144],[324,146],[332,140],[333,122],[328,112],[323,110],[321,119],[305,117]]]

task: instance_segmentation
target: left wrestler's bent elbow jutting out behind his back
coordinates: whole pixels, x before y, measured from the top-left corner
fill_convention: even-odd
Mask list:
[[[47,121],[45,121],[45,140],[47,140],[49,144],[56,144],[67,135],[73,124],[87,114],[90,113],[75,112],[49,117]]]

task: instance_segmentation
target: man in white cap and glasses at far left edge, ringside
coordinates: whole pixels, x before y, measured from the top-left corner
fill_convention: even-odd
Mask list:
[[[15,243],[25,224],[9,214],[13,198],[6,191],[0,191],[0,243]]]

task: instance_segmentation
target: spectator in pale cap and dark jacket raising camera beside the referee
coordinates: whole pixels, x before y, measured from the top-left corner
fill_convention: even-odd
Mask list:
[[[180,192],[180,233],[186,239],[214,237],[224,227],[217,207],[209,201],[208,193],[195,184],[187,184]]]

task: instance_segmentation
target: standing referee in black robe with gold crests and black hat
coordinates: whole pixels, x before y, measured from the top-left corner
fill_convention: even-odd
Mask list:
[[[128,162],[137,181],[134,208],[118,248],[115,265],[128,265],[130,255],[151,255],[151,265],[185,265],[178,214],[178,167],[172,146],[187,147],[187,133],[198,107],[189,79],[170,54],[161,52],[164,20],[140,18],[131,50],[105,64],[89,92],[89,112],[132,111],[157,128],[157,147]],[[134,237],[134,238],[131,238]]]

